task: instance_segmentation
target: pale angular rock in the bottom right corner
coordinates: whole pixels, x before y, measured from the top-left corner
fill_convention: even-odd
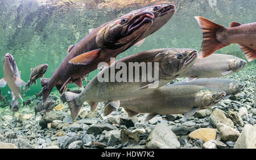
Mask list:
[[[245,124],[234,149],[256,149],[256,125]]]

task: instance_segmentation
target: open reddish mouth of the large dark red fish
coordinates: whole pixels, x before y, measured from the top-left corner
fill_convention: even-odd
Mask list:
[[[144,12],[138,16],[135,16],[131,25],[129,25],[128,32],[133,32],[135,29],[141,28],[146,23],[153,23],[154,14],[151,12]]]

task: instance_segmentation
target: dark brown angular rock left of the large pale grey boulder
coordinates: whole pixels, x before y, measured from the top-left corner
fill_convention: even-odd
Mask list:
[[[122,143],[128,142],[128,144],[138,144],[139,142],[138,136],[126,129],[122,129],[120,135]]]

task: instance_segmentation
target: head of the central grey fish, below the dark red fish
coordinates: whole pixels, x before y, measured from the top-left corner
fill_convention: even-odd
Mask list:
[[[176,77],[187,71],[195,63],[197,56],[198,52],[195,49],[165,49],[156,55],[154,61],[159,62],[160,77]]]

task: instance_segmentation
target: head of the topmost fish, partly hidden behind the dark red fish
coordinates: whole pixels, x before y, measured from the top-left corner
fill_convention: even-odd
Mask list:
[[[144,12],[152,12],[155,18],[153,19],[153,23],[151,27],[147,31],[147,36],[158,31],[164,24],[168,22],[172,18],[175,13],[175,6],[172,4],[160,4],[149,6],[145,8],[141,8],[141,11]]]

